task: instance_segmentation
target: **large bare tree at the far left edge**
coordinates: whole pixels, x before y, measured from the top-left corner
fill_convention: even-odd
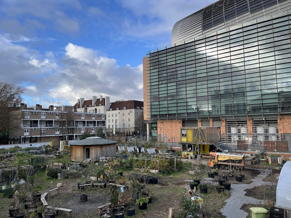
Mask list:
[[[25,88],[13,83],[0,80],[0,133],[10,130],[18,130],[21,123],[19,104],[23,102],[22,94]]]

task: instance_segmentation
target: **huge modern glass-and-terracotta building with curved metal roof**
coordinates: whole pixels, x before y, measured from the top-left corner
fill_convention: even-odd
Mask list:
[[[177,142],[181,127],[215,126],[228,144],[290,146],[290,4],[219,0],[178,21],[173,44],[143,58],[152,137]]]

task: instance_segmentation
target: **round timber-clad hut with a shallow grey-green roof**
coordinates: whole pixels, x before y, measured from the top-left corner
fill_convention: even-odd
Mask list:
[[[116,157],[116,141],[100,137],[88,137],[70,144],[71,160],[97,162],[100,157]]]

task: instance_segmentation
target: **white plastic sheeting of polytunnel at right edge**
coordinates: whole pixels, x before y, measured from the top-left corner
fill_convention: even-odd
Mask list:
[[[291,208],[290,171],[291,161],[287,161],[281,170],[276,194],[276,205],[287,208]]]

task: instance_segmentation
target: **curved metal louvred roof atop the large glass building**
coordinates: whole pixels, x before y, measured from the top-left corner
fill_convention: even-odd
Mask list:
[[[172,43],[189,40],[291,8],[291,0],[219,0],[175,23]]]

